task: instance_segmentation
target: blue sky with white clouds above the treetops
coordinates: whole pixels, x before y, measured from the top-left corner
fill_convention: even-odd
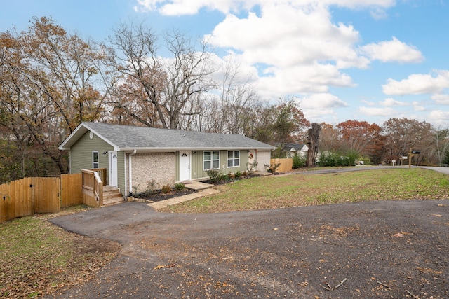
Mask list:
[[[119,22],[207,38],[265,99],[295,97],[307,119],[449,125],[449,1],[2,0],[0,31],[51,16],[103,41]]]

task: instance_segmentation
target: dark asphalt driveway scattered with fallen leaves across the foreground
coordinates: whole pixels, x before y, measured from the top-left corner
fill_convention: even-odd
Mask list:
[[[51,221],[122,249],[95,279],[48,298],[449,298],[448,206],[164,214],[129,202],[61,216]]]

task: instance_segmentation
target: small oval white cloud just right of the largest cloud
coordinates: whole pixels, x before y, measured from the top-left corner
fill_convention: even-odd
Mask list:
[[[422,62],[422,53],[413,46],[409,46],[393,36],[391,41],[369,43],[361,47],[361,53],[367,55],[370,60],[382,62]]]

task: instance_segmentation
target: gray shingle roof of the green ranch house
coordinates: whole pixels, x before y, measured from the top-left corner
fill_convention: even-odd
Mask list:
[[[201,150],[218,148],[274,149],[274,146],[241,135],[110,125],[105,123],[81,123],[61,144],[60,149],[67,149],[72,146],[81,137],[81,134],[84,134],[87,130],[109,142],[109,144],[112,144],[119,151],[130,151],[134,149],[161,149],[166,151],[170,149]]]

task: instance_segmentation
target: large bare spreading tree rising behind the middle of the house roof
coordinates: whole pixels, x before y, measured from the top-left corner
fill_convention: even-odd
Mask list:
[[[112,66],[119,74],[111,103],[149,127],[187,127],[187,116],[199,114],[192,104],[212,86],[206,44],[200,50],[180,32],[163,36],[164,50],[171,57],[158,55],[159,36],[143,24],[120,25],[110,49]],[[135,106],[132,106],[132,105]],[[188,117],[187,117],[188,118]]]

